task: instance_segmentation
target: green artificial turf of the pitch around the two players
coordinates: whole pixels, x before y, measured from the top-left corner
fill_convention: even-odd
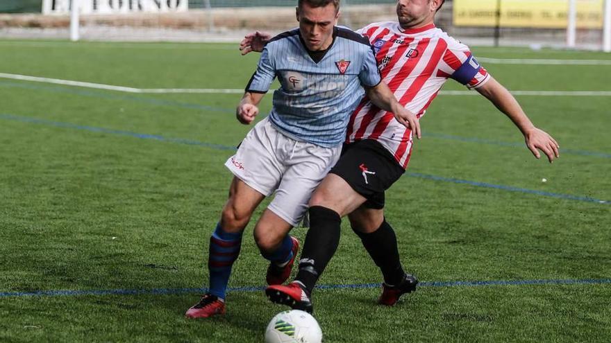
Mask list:
[[[242,89],[257,57],[224,44],[4,40],[0,60],[0,73]],[[482,64],[514,91],[611,91],[610,65]],[[240,97],[0,78],[0,342],[262,342],[284,308],[260,290],[267,262],[253,223],[227,314],[183,317],[198,299],[192,289],[207,285],[208,239],[231,181],[224,161],[249,130],[233,114]],[[533,158],[483,97],[440,95],[421,120],[408,173],[387,193],[405,269],[423,286],[393,308],[376,305],[380,273],[344,220],[319,281],[333,287],[313,298],[326,342],[611,340],[611,97],[518,100],[558,140],[560,159]],[[270,106],[268,95],[260,117]],[[303,240],[305,229],[294,234]],[[37,291],[48,293],[29,294]]]

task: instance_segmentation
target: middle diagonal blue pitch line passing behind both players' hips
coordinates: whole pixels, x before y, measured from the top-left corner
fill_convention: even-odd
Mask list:
[[[122,131],[122,130],[105,129],[103,127],[75,125],[71,123],[62,123],[58,121],[47,121],[45,119],[40,119],[40,118],[31,118],[31,117],[26,117],[26,116],[14,116],[12,114],[0,113],[0,118],[12,120],[12,121],[21,121],[24,123],[35,123],[35,124],[42,124],[42,125],[51,125],[51,126],[56,126],[56,127],[65,127],[69,129],[76,129],[76,130],[87,130],[87,131],[92,131],[92,132],[117,134],[117,135],[122,135],[122,136],[135,137],[139,139],[153,139],[156,141],[186,144],[190,146],[203,146],[206,148],[212,148],[212,149],[218,149],[218,150],[236,150],[236,148],[233,146],[223,146],[221,144],[204,143],[200,141],[193,141],[190,139],[167,138],[167,137],[163,137],[163,136],[155,135],[155,134],[140,134],[136,132]],[[469,181],[469,180],[463,180],[463,179],[454,179],[451,177],[441,177],[441,176],[426,175],[426,174],[421,174],[421,173],[405,173],[405,175],[408,175],[410,177],[419,177],[421,179],[432,179],[435,181],[453,182],[455,184],[469,184],[471,186],[495,188],[495,189],[501,189],[503,191],[544,195],[547,197],[557,197],[557,198],[565,199],[565,200],[594,202],[596,204],[611,204],[610,200],[599,200],[599,199],[594,199],[592,197],[583,197],[583,196],[578,196],[578,195],[551,193],[551,192],[545,192],[545,191],[535,191],[533,189],[518,188],[518,187],[512,187],[512,186],[503,186],[499,184],[487,184],[485,182],[475,182],[475,181]]]

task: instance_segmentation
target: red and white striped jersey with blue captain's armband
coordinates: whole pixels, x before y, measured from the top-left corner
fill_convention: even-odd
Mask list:
[[[469,47],[436,28],[401,28],[396,21],[365,26],[359,33],[376,51],[378,69],[397,100],[420,118],[446,80],[453,78],[469,89],[484,85],[490,76]],[[407,168],[412,132],[365,97],[350,118],[346,143],[375,139]]]

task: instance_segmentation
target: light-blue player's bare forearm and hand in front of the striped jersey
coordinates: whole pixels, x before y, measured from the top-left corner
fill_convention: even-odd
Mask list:
[[[396,121],[399,121],[399,123],[412,130],[418,139],[421,138],[420,121],[415,114],[405,109],[405,107],[396,100],[394,94],[384,82],[378,83],[376,87],[365,87],[365,92],[371,100],[371,103],[374,103],[374,105],[380,107],[380,109],[394,114]]]

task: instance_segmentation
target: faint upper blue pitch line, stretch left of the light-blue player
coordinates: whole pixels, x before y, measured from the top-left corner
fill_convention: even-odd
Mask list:
[[[153,99],[153,98],[146,98],[143,96],[109,94],[106,92],[88,91],[84,89],[72,89],[72,88],[66,89],[62,87],[53,87],[53,86],[44,86],[44,85],[29,85],[26,83],[2,82],[2,81],[0,81],[0,86],[16,87],[16,88],[24,88],[24,89],[35,89],[35,90],[41,90],[41,91],[50,91],[52,93],[76,94],[80,96],[89,96],[92,98],[103,98],[103,99],[110,99],[110,100],[129,100],[129,101],[134,101],[136,103],[144,103],[147,105],[182,107],[182,108],[189,108],[189,109],[202,109],[206,111],[221,112],[221,113],[235,113],[235,109],[228,109],[225,107],[199,105],[199,104],[194,104],[194,103],[183,103],[180,101],[171,101],[171,100],[158,100],[158,99]]]

